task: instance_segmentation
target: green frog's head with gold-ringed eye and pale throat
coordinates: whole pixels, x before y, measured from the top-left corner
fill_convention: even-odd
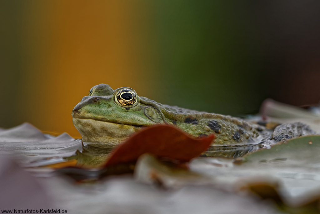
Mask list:
[[[131,88],[113,90],[109,85],[92,87],[89,96],[72,110],[73,124],[84,142],[114,146],[141,127],[164,123],[155,106],[141,103]]]

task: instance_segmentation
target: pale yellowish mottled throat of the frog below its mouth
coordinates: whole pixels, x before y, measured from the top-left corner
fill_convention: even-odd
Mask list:
[[[82,141],[116,146],[125,141],[132,133],[140,131],[141,127],[116,124],[94,119],[73,118],[73,124],[82,136]]]

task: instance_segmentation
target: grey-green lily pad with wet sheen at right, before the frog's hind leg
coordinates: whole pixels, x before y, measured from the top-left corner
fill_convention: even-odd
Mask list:
[[[320,136],[289,140],[271,149],[249,154],[241,165],[223,158],[196,159],[192,170],[211,175],[221,185],[233,185],[248,178],[273,178],[288,204],[305,203],[320,192]],[[216,166],[212,162],[228,163]]]

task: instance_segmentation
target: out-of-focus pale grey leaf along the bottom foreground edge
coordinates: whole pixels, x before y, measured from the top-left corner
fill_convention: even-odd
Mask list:
[[[52,177],[43,180],[43,184],[56,196],[56,202],[61,207],[77,214],[281,213],[268,202],[222,191],[210,185],[187,185],[177,191],[164,191],[136,182],[132,176],[112,176],[95,185],[80,186],[59,177]]]

